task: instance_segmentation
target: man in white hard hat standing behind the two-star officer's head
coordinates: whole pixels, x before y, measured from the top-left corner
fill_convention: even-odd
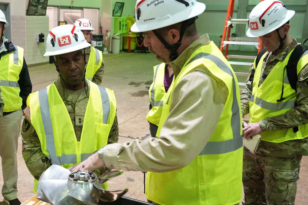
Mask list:
[[[95,30],[90,20],[79,18],[75,21],[74,25],[82,31],[84,38],[89,43],[92,31]],[[96,85],[100,85],[102,83],[105,65],[102,51],[93,46],[89,46],[84,49],[84,52],[86,54],[86,79]]]

